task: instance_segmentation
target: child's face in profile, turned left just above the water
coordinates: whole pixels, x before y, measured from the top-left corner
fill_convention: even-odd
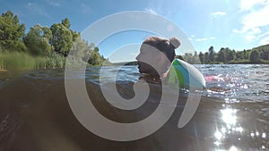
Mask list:
[[[146,44],[141,46],[140,54],[136,56],[136,60],[139,72],[150,74],[152,77],[162,77],[160,74],[168,71],[170,65],[166,55],[157,48]]]

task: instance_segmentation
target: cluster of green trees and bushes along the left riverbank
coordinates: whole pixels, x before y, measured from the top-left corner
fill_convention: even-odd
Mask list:
[[[100,55],[99,48],[93,43],[88,44],[81,38],[79,32],[70,27],[69,19],[65,18],[50,27],[36,24],[30,27],[28,33],[25,33],[25,24],[20,23],[17,15],[14,15],[12,11],[2,13],[0,16],[0,68],[4,68],[3,55],[14,53],[27,53],[33,57],[41,57],[43,62],[36,63],[38,68],[63,67],[65,57],[72,47],[78,50],[76,55],[90,57],[86,61],[89,64],[103,63],[106,59]]]

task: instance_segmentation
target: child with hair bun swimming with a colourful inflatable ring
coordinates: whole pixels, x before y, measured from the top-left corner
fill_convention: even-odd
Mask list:
[[[140,54],[136,56],[139,72],[148,75],[143,79],[157,82],[163,80],[165,83],[178,84],[182,88],[204,88],[203,74],[195,66],[175,59],[175,49],[178,46],[178,38],[145,39]]]

